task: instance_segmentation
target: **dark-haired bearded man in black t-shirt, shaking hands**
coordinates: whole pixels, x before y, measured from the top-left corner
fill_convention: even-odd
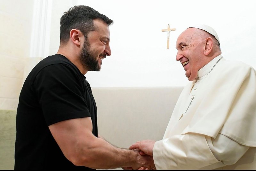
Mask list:
[[[109,144],[97,129],[97,107],[85,78],[111,55],[112,20],[80,5],[60,19],[60,48],[39,62],[20,92],[15,170],[153,168],[152,157]]]

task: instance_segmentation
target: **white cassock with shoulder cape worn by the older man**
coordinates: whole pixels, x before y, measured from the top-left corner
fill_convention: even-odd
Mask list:
[[[256,169],[256,71],[221,57],[181,92],[153,148],[156,169]]]

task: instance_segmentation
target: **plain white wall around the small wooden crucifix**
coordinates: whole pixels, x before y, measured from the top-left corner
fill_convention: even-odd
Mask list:
[[[183,86],[185,71],[175,60],[175,43],[190,23],[212,26],[220,37],[222,55],[256,68],[256,1],[251,0],[78,0],[114,20],[110,26],[112,55],[100,72],[88,72],[92,87]],[[59,19],[57,19],[59,21]],[[176,28],[170,33],[161,29]]]

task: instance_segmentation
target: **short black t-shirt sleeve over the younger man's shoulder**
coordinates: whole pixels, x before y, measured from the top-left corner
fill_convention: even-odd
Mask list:
[[[90,117],[81,73],[66,64],[42,69],[31,87],[35,90],[44,119],[49,126],[60,121]]]

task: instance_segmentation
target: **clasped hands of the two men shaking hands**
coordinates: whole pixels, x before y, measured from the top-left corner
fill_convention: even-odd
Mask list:
[[[136,160],[131,167],[122,167],[124,170],[156,170],[153,160],[153,147],[155,141],[143,140],[138,141],[129,147],[130,150],[136,152]]]

